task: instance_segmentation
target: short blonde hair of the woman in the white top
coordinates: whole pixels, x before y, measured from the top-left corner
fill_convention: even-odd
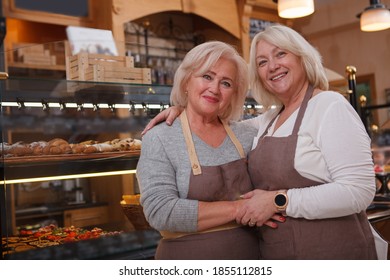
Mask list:
[[[281,104],[280,100],[264,87],[257,73],[256,47],[262,40],[298,56],[301,59],[309,83],[315,88],[328,90],[328,78],[322,65],[322,57],[317,49],[295,30],[281,24],[273,24],[255,35],[250,49],[249,84],[251,94],[259,104],[265,108]]]

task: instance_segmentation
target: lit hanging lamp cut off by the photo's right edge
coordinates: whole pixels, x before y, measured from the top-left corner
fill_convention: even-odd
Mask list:
[[[380,0],[370,0],[370,6],[358,14],[360,18],[360,29],[372,32],[390,28],[390,11]]]

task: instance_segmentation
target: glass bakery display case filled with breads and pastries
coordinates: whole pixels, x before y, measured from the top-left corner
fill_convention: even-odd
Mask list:
[[[159,234],[120,202],[139,192],[140,132],[169,106],[170,86],[69,80],[61,48],[34,46],[46,60],[27,48],[3,54],[13,59],[0,80],[1,257],[152,258]]]

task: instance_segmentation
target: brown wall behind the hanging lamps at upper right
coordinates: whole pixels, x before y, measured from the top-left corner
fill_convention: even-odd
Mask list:
[[[390,29],[360,31],[356,15],[369,5],[368,0],[314,2],[315,13],[296,19],[293,28],[318,48],[326,67],[345,74],[345,67],[353,65],[357,76],[374,74],[376,102],[385,103],[385,89],[390,88]],[[381,3],[390,7],[389,0]]]

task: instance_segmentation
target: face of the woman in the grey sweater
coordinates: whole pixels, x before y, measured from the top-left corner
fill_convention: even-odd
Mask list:
[[[226,110],[236,93],[236,67],[225,58],[220,58],[205,73],[194,73],[188,83],[188,110],[201,116],[217,117]]]

